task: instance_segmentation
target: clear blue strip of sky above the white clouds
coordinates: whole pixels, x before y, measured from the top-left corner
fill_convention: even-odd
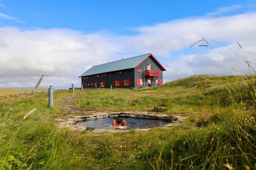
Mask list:
[[[6,20],[2,21],[2,25],[18,26],[25,29],[69,28],[83,32],[107,30],[130,35],[133,27],[204,16],[218,10],[222,16],[239,14],[249,11],[252,8],[252,2],[244,1],[241,4],[241,1],[234,0],[218,3],[216,1],[9,0],[2,1],[1,11],[15,18],[16,21],[20,21]]]

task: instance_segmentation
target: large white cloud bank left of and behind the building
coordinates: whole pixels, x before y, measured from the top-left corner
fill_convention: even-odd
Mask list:
[[[0,86],[13,86],[13,82],[31,86],[25,80],[35,77],[36,83],[42,73],[45,77],[41,86],[78,83],[79,74],[99,61],[111,60],[109,54],[118,48],[105,35],[66,29],[21,31],[7,27],[0,29],[0,39],[0,79],[5,77]]]

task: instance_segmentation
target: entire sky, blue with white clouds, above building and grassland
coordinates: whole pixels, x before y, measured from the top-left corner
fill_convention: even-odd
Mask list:
[[[256,70],[256,1],[0,0],[0,87],[81,87],[98,64],[152,53],[163,82]],[[250,67],[251,66],[251,67]]]

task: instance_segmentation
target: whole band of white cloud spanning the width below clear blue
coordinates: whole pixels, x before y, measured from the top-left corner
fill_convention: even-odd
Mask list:
[[[166,67],[165,82],[194,74],[235,74],[232,67],[248,73],[245,61],[256,63],[255,18],[256,13],[245,13],[177,19],[135,28],[138,35],[133,36],[2,27],[0,87],[34,87],[42,73],[40,87],[79,86],[78,76],[91,66],[145,53]],[[211,47],[189,48],[201,36],[227,44],[238,55],[212,40]]]

